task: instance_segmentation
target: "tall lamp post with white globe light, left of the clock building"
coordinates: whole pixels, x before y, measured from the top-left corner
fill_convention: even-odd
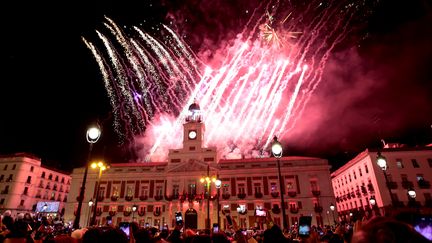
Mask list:
[[[73,224],[74,229],[79,228],[79,221],[81,218],[81,208],[82,208],[82,202],[84,200],[85,184],[87,181],[87,174],[88,174],[88,162],[90,161],[91,152],[93,149],[93,144],[99,140],[100,135],[101,135],[101,129],[98,125],[92,126],[89,129],[87,129],[86,138],[87,138],[87,142],[89,143],[89,152],[88,152],[88,156],[87,156],[86,166],[84,169],[84,177],[83,177],[83,181],[81,184],[81,190],[80,190],[80,194],[78,196],[78,207],[77,207],[76,217],[75,217],[74,224]]]

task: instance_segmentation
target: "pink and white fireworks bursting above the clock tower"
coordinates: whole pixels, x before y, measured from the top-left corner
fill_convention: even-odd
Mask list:
[[[290,14],[272,26],[277,8],[272,9],[262,16],[254,12],[249,25],[256,19],[255,25],[217,51],[218,64],[203,63],[166,26],[163,41],[137,27],[138,37],[130,38],[107,19],[115,43],[98,32],[107,57],[85,41],[104,77],[116,130],[144,144],[143,161],[164,160],[168,149],[181,146],[182,124],[194,101],[203,112],[206,146],[216,146],[225,158],[263,156],[274,135],[289,137],[329,55],[347,35],[351,15],[325,8],[302,27],[303,34],[294,35]]]

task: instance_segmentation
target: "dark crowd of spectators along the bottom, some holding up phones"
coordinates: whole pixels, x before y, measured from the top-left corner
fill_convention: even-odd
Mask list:
[[[140,227],[136,222],[124,225],[126,228],[105,225],[73,230],[60,218],[41,217],[38,220],[29,213],[13,217],[10,211],[6,211],[1,220],[0,243],[430,242],[411,225],[390,217],[374,217],[367,221],[333,226],[311,226],[306,235],[299,232],[297,225],[282,230],[273,223],[270,213],[266,216],[266,230],[241,229],[235,220],[227,230],[217,231],[185,229],[182,224],[171,230],[165,227]]]

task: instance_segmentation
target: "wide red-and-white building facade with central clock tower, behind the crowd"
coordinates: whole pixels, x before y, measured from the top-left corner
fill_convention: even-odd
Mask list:
[[[277,159],[219,159],[216,148],[203,146],[199,106],[192,104],[189,111],[183,125],[183,147],[171,149],[167,161],[111,164],[102,173],[98,195],[98,173],[88,170],[80,226],[88,225],[91,211],[96,210],[96,222],[102,225],[110,219],[114,225],[136,221],[172,228],[175,212],[181,212],[187,228],[206,228],[208,217],[209,225],[219,223],[225,228],[226,214],[242,228],[263,228],[264,218],[256,215],[257,209],[267,209],[275,223],[282,225]],[[336,202],[328,161],[287,156],[280,158],[280,167],[288,225],[296,224],[302,215],[312,216],[315,225],[332,224],[335,212],[329,210]],[[76,168],[71,175],[64,217],[69,222],[76,217],[84,170]],[[221,181],[219,188],[212,178]],[[87,203],[96,199],[93,209]]]

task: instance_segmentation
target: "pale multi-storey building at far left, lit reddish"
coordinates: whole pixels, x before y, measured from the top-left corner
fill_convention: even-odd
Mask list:
[[[42,178],[43,173],[45,178]],[[67,173],[44,167],[41,160],[33,155],[0,156],[0,210],[11,210],[13,215],[19,212],[34,213],[39,201],[58,201],[61,213],[67,200],[70,180]]]

